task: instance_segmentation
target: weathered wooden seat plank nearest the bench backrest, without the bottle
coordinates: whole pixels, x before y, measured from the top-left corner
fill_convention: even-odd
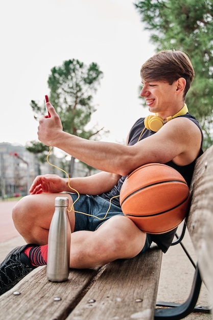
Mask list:
[[[137,319],[152,319],[161,259],[161,250],[151,248],[133,259],[117,260],[106,265],[102,275],[67,320],[130,319],[134,316]]]

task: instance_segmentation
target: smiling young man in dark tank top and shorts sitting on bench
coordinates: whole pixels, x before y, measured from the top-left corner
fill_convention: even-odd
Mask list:
[[[154,132],[145,128],[144,118],[130,130],[127,145],[88,141],[66,133],[50,102],[46,104],[51,117],[39,122],[38,139],[55,146],[100,173],[70,179],[70,186],[81,194],[75,211],[69,212],[72,229],[70,268],[102,266],[115,259],[129,259],[144,252],[152,241],[163,252],[169,248],[175,230],[162,235],[147,235],[122,213],[119,195],[126,175],[147,163],[162,163],[178,170],[190,185],[196,159],[202,154],[202,130],[197,120],[184,108],[185,96],[194,78],[190,59],[180,51],[162,51],[150,58],[140,70],[144,97],[154,119],[161,128]],[[172,117],[173,116],[173,117]],[[145,123],[149,121],[145,121]],[[68,179],[57,175],[38,176],[29,196],[23,197],[13,209],[15,227],[28,243],[15,248],[0,266],[0,293],[13,287],[38,265],[46,264],[48,233],[54,212],[55,197],[67,196],[69,205],[77,199]],[[74,193],[72,193],[74,192]],[[97,216],[98,218],[94,217]],[[128,239],[128,241],[126,241]]]

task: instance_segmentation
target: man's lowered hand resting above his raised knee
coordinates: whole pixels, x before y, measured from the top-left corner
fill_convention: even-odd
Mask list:
[[[30,194],[40,193],[60,193],[66,191],[66,180],[56,174],[38,175],[32,186],[30,187]]]

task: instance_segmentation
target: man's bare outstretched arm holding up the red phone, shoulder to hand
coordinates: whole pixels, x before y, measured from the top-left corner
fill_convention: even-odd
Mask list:
[[[200,151],[201,132],[192,121],[183,117],[169,121],[158,132],[134,146],[124,146],[90,141],[64,132],[54,107],[50,103],[47,106],[51,118],[40,120],[39,140],[102,171],[127,175],[146,163],[167,163],[172,159],[179,165],[187,165]]]

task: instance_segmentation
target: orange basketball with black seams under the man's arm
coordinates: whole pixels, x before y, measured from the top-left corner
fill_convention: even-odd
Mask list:
[[[177,170],[151,163],[127,176],[120,203],[125,216],[140,230],[161,234],[173,230],[185,218],[190,190]]]

